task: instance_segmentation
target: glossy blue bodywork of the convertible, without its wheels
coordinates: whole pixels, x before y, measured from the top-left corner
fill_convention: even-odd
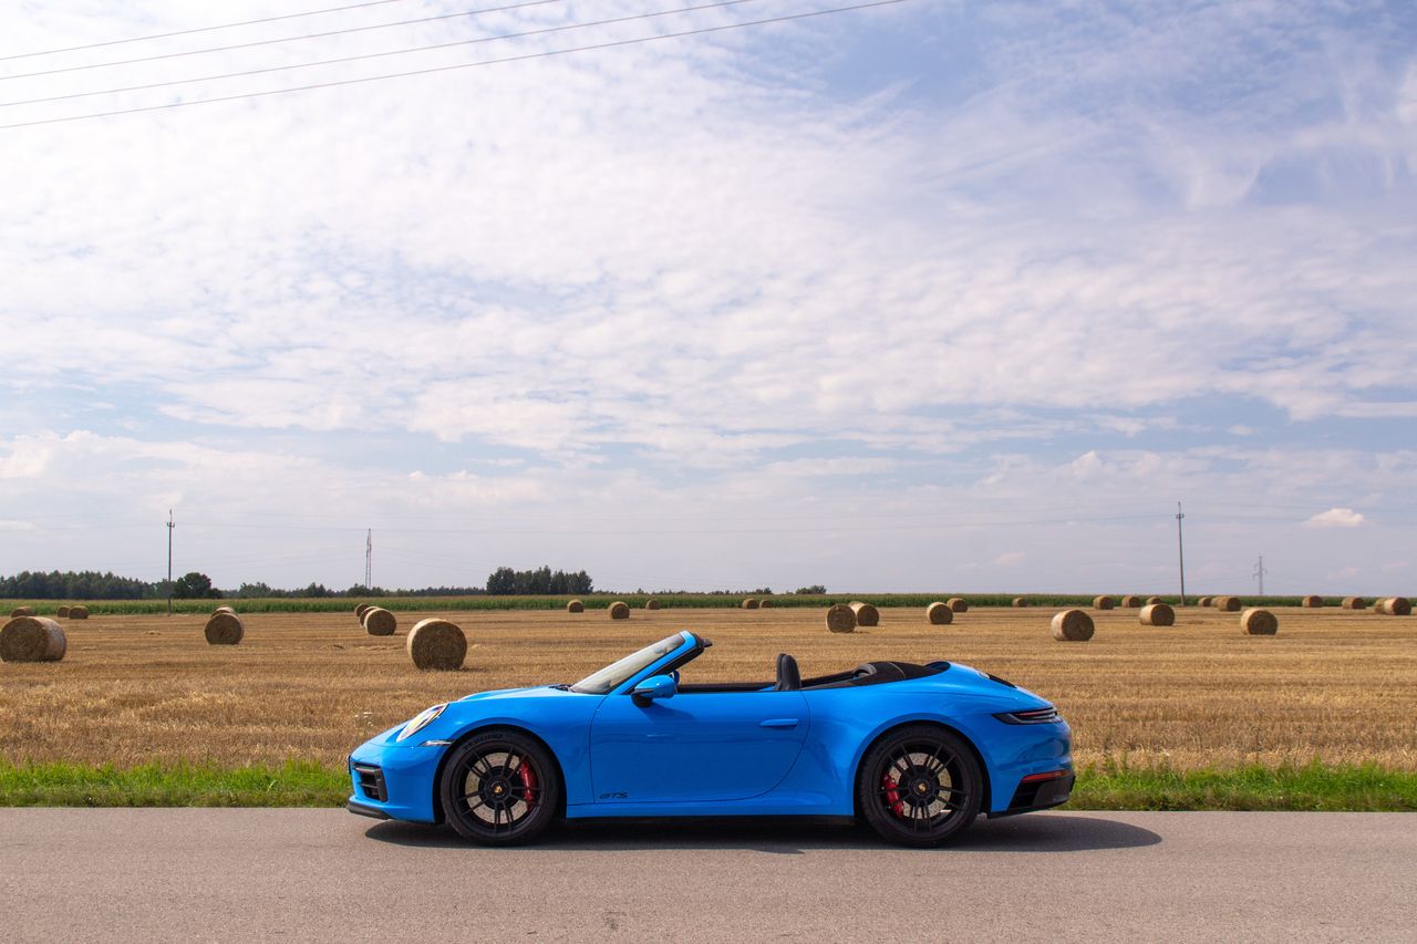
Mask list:
[[[802,690],[704,690],[643,702],[631,690],[703,652],[693,634],[608,693],[564,686],[506,689],[451,702],[427,727],[378,734],[350,755],[350,808],[436,822],[438,777],[462,738],[519,729],[561,767],[565,816],[854,814],[856,774],[880,736],[942,724],[975,748],[992,815],[1056,805],[1071,787],[1071,731],[1057,719],[1015,724],[999,714],[1047,709],[1039,696],[958,663],[925,678]],[[1024,777],[1066,772],[1051,792]]]

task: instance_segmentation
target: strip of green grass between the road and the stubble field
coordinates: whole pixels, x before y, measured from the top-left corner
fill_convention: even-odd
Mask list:
[[[142,764],[0,764],[3,807],[341,807],[343,768]],[[1078,774],[1068,809],[1417,811],[1417,772],[1374,765],[1135,768],[1107,764]]]

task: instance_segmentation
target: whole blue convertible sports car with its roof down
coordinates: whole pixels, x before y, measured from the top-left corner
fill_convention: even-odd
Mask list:
[[[558,816],[809,815],[928,846],[1073,790],[1068,726],[1003,679],[949,662],[803,679],[779,655],[775,682],[680,683],[710,645],[676,632],[575,685],[435,704],[350,755],[349,808],[487,845]]]

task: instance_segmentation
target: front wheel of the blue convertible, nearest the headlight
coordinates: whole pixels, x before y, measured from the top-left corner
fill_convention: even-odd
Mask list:
[[[455,747],[438,784],[448,825],[485,846],[536,839],[555,819],[561,790],[551,754],[516,731],[475,734]]]

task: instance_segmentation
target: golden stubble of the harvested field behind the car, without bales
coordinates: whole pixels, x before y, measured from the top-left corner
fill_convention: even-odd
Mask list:
[[[239,646],[210,646],[205,617],[95,617],[65,626],[62,662],[0,665],[0,760],[341,764],[370,734],[482,689],[574,682],[677,629],[717,645],[689,680],[772,678],[778,652],[803,676],[867,659],[951,659],[1053,699],[1081,765],[1107,758],[1180,768],[1374,761],[1417,770],[1417,618],[1274,608],[1277,636],[1238,614],[1185,609],[1153,629],[1135,611],[1097,612],[1097,635],[1056,642],[1053,609],[972,608],[932,626],[917,607],[879,628],[832,634],[816,608],[411,612],[462,626],[458,672],[419,672],[407,631],[367,635],[347,614],[242,617]],[[407,621],[407,622],[405,622]]]

